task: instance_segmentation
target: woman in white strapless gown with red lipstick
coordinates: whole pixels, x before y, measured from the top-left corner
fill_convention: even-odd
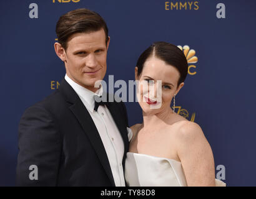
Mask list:
[[[184,86],[187,69],[184,53],[166,42],[150,45],[137,61],[143,123],[129,129],[132,139],[125,170],[129,186],[225,185],[215,180],[212,149],[200,126],[170,108]]]

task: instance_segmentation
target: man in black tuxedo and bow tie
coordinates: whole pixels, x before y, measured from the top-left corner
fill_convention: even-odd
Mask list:
[[[66,76],[21,118],[17,185],[125,186],[126,108],[94,100],[103,94],[94,85],[106,74],[107,25],[96,12],[77,9],[60,17],[56,34]]]

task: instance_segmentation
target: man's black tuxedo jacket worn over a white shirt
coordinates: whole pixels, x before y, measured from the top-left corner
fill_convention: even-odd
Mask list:
[[[129,148],[124,103],[108,109]],[[31,180],[31,165],[38,179]],[[115,186],[99,132],[79,96],[66,80],[59,90],[24,112],[19,124],[18,186]],[[32,172],[32,173],[31,173]]]

